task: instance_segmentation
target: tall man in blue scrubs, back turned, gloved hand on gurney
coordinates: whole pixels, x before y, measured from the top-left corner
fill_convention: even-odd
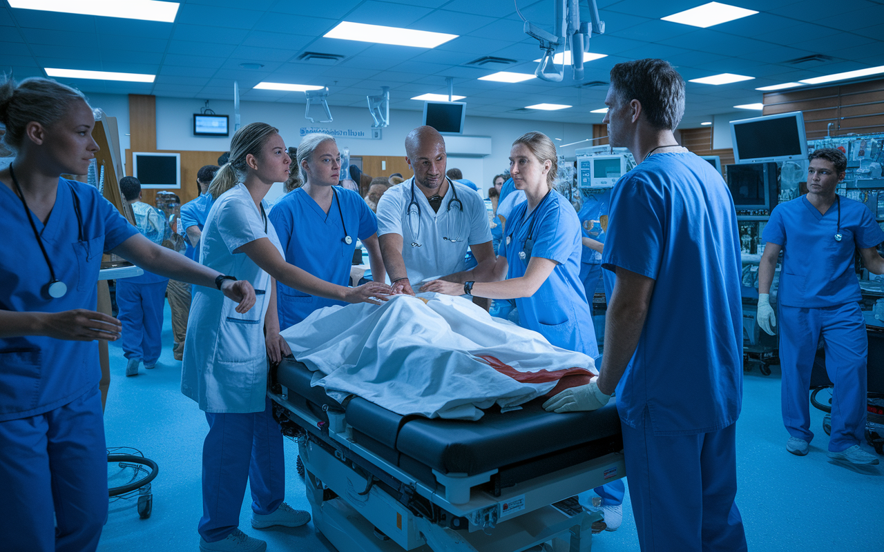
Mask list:
[[[684,80],[667,62],[614,65],[605,122],[635,169],[613,189],[602,266],[616,275],[598,380],[553,397],[593,410],[617,393],[643,550],[745,550],[735,503],[743,398],[736,212],[712,165],[680,147]]]

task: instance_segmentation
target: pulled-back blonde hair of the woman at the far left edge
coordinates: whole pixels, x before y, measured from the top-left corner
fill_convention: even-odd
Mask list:
[[[78,100],[89,104],[80,90],[52,79],[30,77],[16,83],[4,76],[0,83],[0,123],[6,126],[4,143],[18,151],[28,123],[55,125]]]

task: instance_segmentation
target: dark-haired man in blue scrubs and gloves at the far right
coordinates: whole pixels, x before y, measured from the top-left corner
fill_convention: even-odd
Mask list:
[[[859,310],[861,298],[853,265],[855,249],[865,268],[884,273],[875,246],[884,231],[862,203],[837,195],[847,158],[837,149],[818,149],[810,156],[807,195],[773,209],[762,238],[765,253],[758,264],[758,325],[773,336],[776,317],[770,287],[780,251],[780,360],[782,420],[789,431],[786,450],[804,456],[813,439],[809,411],[813,358],[825,337],[826,370],[834,382],[832,435],[828,456],[850,464],[878,464],[862,450],[866,416],[868,337]]]

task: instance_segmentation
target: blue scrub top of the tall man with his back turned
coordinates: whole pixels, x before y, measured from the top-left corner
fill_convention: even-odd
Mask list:
[[[636,352],[617,385],[623,423],[654,435],[716,431],[743,401],[743,305],[734,201],[691,153],[651,155],[613,188],[602,267],[652,278]]]

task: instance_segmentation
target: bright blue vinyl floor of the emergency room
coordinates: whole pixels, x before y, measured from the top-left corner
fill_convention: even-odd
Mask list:
[[[163,354],[155,369],[142,366],[136,377],[124,375],[123,352],[119,344],[110,344],[108,446],[141,450],[159,465],[159,475],[152,486],[149,519],[139,518],[134,500],[110,503],[98,547],[103,552],[177,552],[198,546],[202,440],[209,427],[196,404],[179,390],[181,363],[172,359],[169,320],[167,305]],[[860,469],[830,462],[828,437],[821,428],[823,412],[812,410],[812,419],[817,436],[810,454],[789,454],[785,447],[789,435],[780,416],[779,367],[774,366],[769,376],[758,371],[746,374],[743,413],[737,422],[737,504],[750,550],[880,552],[884,549],[884,465]],[[296,452],[296,444],[286,440],[286,502],[309,510],[303,481],[294,469]],[[240,529],[267,541],[268,550],[334,550],[312,523],[295,529],[252,529],[249,510],[246,500]],[[639,549],[629,494],[620,529],[597,535],[592,544],[594,552]]]

